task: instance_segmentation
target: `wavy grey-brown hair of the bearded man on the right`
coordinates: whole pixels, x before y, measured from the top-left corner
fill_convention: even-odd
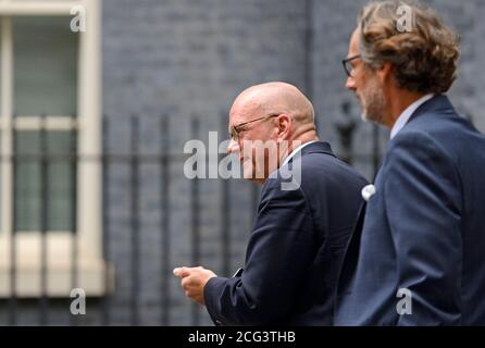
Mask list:
[[[398,27],[400,7],[412,12],[412,30]],[[457,77],[460,38],[419,0],[372,1],[358,16],[361,59],[372,69],[394,64],[400,88],[446,92]]]

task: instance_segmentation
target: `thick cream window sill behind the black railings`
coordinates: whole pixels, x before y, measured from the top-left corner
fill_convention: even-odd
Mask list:
[[[39,233],[16,235],[15,296],[20,298],[70,297],[74,287],[86,296],[99,297],[114,289],[113,266],[92,246],[96,240],[78,239],[76,281],[73,282],[73,236],[69,233],[48,233],[46,248],[46,294],[42,294],[42,236]],[[11,252],[9,238],[0,235],[0,298],[11,297]],[[108,275],[108,282],[105,277]],[[75,286],[74,286],[75,285]]]

